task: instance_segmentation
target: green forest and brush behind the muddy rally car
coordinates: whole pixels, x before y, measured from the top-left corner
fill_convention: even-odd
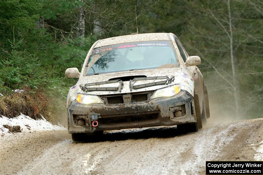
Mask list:
[[[208,86],[210,111],[220,118],[263,114],[261,0],[1,0],[0,115],[66,118],[68,89],[99,39],[171,32]]]

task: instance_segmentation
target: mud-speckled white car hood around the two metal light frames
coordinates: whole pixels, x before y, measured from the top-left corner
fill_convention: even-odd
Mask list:
[[[84,92],[80,90],[81,93],[86,94],[95,94],[95,95],[106,95],[106,94],[123,94],[123,93],[134,93],[134,92],[142,92],[142,91],[151,91],[151,90],[157,90],[166,86],[170,86],[173,84],[178,83],[176,81],[177,77],[180,75],[182,69],[180,67],[177,68],[160,68],[160,69],[143,69],[143,70],[132,70],[132,71],[123,71],[123,72],[114,72],[114,73],[105,73],[105,74],[99,74],[99,75],[91,75],[91,76],[84,76],[80,77],[77,86],[79,85],[85,85],[87,83],[95,83],[95,82],[101,82],[101,81],[108,81],[110,79],[119,78],[121,77],[128,77],[128,76],[146,76],[146,77],[159,77],[159,76],[175,76],[175,81],[169,83],[168,85],[154,85],[150,87],[144,87],[140,89],[132,89],[130,90],[130,81],[123,81],[123,89],[121,92],[119,90],[117,91],[88,91]],[[134,85],[139,84],[146,84],[146,83],[152,83],[152,82],[158,82],[163,80],[144,80],[144,81],[137,81]],[[111,83],[111,84],[104,84],[104,85],[96,85],[96,86],[90,86],[90,87],[117,87],[119,86],[119,83]]]

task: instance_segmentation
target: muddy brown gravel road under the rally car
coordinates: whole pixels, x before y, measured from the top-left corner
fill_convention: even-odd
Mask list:
[[[67,131],[1,137],[0,174],[205,174],[206,160],[263,160],[263,118],[111,131],[74,143]]]

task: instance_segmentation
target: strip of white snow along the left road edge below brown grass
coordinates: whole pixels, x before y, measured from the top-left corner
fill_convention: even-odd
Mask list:
[[[66,130],[65,127],[53,125],[52,123],[46,121],[42,116],[42,119],[34,120],[27,115],[20,114],[15,118],[7,118],[5,116],[0,116],[0,135],[9,134],[8,129],[3,127],[3,125],[16,126],[19,125],[22,132],[24,131],[48,131],[48,130]],[[28,125],[29,127],[25,126]],[[29,129],[28,129],[29,128]]]

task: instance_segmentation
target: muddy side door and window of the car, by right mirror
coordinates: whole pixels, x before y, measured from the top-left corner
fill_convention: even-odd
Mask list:
[[[176,36],[175,36],[175,43],[177,44],[179,52],[183,58],[183,61],[185,62],[187,57],[188,57],[188,53],[186,52],[183,45],[181,44],[181,42],[179,41],[179,39]],[[200,70],[196,66],[186,67],[186,70],[192,76],[192,78],[194,80],[194,88],[195,88],[194,90],[195,90],[195,93],[199,97],[200,106],[202,106],[202,102],[203,102],[203,75],[201,74]]]

